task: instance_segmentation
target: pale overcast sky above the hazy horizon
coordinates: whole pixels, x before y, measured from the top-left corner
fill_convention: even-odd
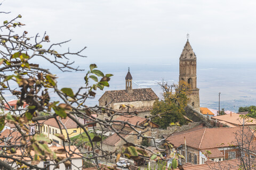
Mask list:
[[[30,35],[47,31],[51,43],[87,46],[86,60],[177,62],[190,35],[201,62],[256,62],[256,1],[5,0],[1,19],[22,15]]]

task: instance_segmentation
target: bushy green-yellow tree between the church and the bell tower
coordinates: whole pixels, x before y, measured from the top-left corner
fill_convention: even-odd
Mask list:
[[[156,100],[153,106],[152,115],[153,122],[160,125],[161,128],[166,129],[167,126],[172,125],[174,122],[179,122],[180,125],[186,124],[187,120],[184,115],[184,108],[187,106],[189,98],[187,97],[190,94],[189,85],[181,81],[175,87],[173,92],[170,86],[167,83],[162,83],[161,88],[163,89],[163,99]]]

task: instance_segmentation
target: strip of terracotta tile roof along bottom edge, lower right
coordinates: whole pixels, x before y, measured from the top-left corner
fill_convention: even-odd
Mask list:
[[[220,162],[213,162],[201,165],[192,165],[192,166],[185,166],[183,167],[184,170],[222,170],[222,169],[229,169],[229,170],[237,170],[239,168],[240,162],[238,159],[230,159],[224,160]]]

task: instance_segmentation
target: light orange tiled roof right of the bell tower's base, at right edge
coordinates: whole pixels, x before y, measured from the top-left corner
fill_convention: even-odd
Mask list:
[[[220,115],[220,116],[213,116],[211,117],[214,120],[219,120],[219,121],[225,121],[237,126],[241,126],[243,123],[243,119],[239,117],[240,115],[237,113],[232,113],[232,114],[227,114],[227,115]],[[256,120],[255,118],[249,118],[249,122],[246,121],[245,125],[256,125]]]

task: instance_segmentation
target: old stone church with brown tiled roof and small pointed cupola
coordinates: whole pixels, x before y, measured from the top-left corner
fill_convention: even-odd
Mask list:
[[[130,69],[125,77],[125,84],[125,90],[106,91],[99,99],[99,106],[108,105],[118,112],[127,112],[129,108],[129,112],[137,111],[141,117],[149,116],[155,100],[158,99],[155,92],[151,88],[133,89]],[[120,107],[121,105],[126,108]]]

